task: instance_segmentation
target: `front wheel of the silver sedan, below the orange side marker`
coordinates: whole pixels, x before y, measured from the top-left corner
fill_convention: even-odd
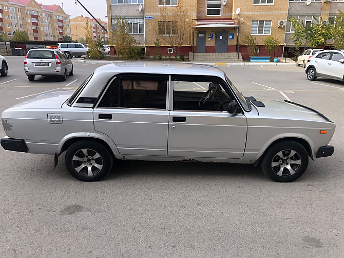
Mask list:
[[[265,175],[276,182],[292,182],[307,169],[308,153],[296,141],[281,141],[266,151],[260,167]]]

